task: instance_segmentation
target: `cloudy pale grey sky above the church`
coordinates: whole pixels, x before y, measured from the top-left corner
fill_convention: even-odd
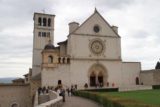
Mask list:
[[[118,26],[122,60],[154,69],[160,58],[160,0],[0,0],[0,77],[22,77],[32,67],[34,12],[56,15],[56,45],[67,39],[68,23],[83,23],[95,7]]]

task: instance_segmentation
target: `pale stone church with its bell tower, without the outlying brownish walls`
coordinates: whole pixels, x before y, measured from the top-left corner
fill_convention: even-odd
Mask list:
[[[118,27],[94,13],[82,24],[69,23],[67,40],[54,43],[54,15],[34,14],[32,77],[41,86],[94,87],[139,84],[140,62],[123,62]]]

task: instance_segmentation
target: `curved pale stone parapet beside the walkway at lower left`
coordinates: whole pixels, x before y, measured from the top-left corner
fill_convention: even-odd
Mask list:
[[[38,93],[36,93],[38,96]],[[62,97],[59,96],[56,92],[54,91],[49,91],[49,101],[40,104],[40,102],[38,102],[38,97],[35,96],[35,103],[34,103],[34,107],[61,107],[62,106]],[[39,105],[38,105],[38,103]]]

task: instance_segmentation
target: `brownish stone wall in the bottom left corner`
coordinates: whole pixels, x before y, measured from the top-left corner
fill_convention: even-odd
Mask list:
[[[18,107],[31,107],[29,85],[1,84],[0,85],[0,105],[1,107],[11,107],[17,104]]]

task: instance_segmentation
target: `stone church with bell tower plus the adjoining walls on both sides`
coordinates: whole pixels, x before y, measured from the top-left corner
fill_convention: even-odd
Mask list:
[[[38,87],[44,86],[133,89],[142,83],[160,84],[159,69],[142,72],[140,62],[122,61],[118,27],[96,9],[82,24],[69,23],[67,40],[57,46],[53,45],[54,18],[34,13],[32,68],[24,79],[0,84],[0,107],[32,107]]]

